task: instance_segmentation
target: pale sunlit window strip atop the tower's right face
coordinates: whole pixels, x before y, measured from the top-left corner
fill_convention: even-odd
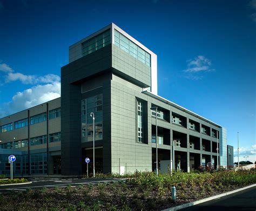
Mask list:
[[[114,44],[147,66],[151,66],[151,55],[117,30],[114,30]]]

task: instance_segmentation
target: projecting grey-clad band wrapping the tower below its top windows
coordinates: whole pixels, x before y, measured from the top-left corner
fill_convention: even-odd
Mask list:
[[[62,83],[84,81],[105,72],[114,72],[140,87],[151,86],[151,68],[113,44],[63,66]]]

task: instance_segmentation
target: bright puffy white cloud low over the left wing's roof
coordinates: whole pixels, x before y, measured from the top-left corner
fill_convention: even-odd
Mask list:
[[[22,111],[46,101],[60,97],[60,82],[36,85],[22,92],[17,92],[9,103],[2,104],[0,117]]]

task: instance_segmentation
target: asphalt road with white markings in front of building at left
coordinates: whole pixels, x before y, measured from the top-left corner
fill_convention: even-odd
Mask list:
[[[31,178],[29,181],[32,183],[25,184],[25,185],[6,185],[0,186],[0,194],[4,192],[9,192],[10,190],[13,191],[25,191],[27,188],[31,189],[42,189],[46,188],[65,188],[66,186],[79,186],[85,185],[89,183],[96,183],[96,182],[117,182],[122,181],[124,179],[83,179],[83,178]]]

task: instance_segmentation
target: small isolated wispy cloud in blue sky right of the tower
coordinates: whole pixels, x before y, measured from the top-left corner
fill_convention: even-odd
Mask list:
[[[187,60],[187,69],[184,70],[184,72],[196,73],[203,71],[212,71],[213,69],[210,69],[211,65],[211,60],[199,55],[198,57],[195,57],[193,60]]]

